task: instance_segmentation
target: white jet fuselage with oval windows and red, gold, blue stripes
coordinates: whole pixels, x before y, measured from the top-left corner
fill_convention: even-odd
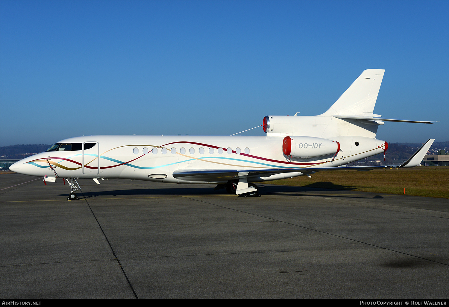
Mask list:
[[[325,139],[296,138],[294,146],[322,153]],[[338,136],[339,151],[317,157],[287,156],[282,136],[80,136],[61,140],[55,150],[15,163],[10,169],[34,176],[58,178],[123,178],[170,183],[226,183],[220,180],[176,178],[178,170],[247,170],[337,167],[383,153],[386,143],[362,136]],[[329,142],[329,140],[327,140]],[[293,144],[293,143],[292,143]],[[301,172],[263,177],[248,175],[248,181],[282,179]]]

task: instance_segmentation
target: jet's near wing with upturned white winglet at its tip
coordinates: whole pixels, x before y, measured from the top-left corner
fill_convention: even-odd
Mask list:
[[[271,175],[282,173],[303,173],[304,175],[313,174],[317,171],[370,171],[376,168],[402,168],[415,167],[421,161],[433,144],[435,139],[429,139],[414,153],[405,163],[401,165],[382,165],[367,167],[295,167],[295,168],[269,168],[269,169],[236,169],[236,170],[208,170],[208,169],[181,169],[173,172],[173,177],[192,181],[225,181],[248,177],[269,177]]]

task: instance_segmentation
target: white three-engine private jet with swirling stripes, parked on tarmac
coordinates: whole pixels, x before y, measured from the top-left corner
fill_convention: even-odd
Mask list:
[[[9,169],[45,181],[67,180],[70,195],[78,178],[124,178],[177,184],[217,184],[229,193],[258,196],[253,182],[277,180],[335,167],[384,153],[376,139],[384,122],[434,123],[373,114],[385,70],[369,69],[325,113],[265,116],[266,136],[79,136],[57,142]],[[296,114],[295,114],[296,115]],[[418,165],[434,139],[405,163]],[[345,167],[367,171],[379,167]],[[342,168],[339,168],[342,169]]]

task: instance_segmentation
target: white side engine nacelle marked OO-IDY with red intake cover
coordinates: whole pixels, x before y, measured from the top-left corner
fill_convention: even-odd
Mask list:
[[[338,153],[340,143],[313,136],[286,136],[282,142],[282,151],[296,158],[320,157]]]

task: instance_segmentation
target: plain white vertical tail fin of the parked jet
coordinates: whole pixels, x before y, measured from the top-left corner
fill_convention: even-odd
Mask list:
[[[384,69],[367,69],[326,111],[326,115],[372,115]]]

